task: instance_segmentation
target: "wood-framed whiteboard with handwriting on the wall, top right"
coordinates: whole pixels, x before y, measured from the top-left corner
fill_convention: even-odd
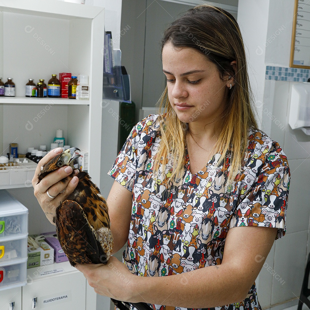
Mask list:
[[[290,67],[310,69],[309,0],[295,0]]]

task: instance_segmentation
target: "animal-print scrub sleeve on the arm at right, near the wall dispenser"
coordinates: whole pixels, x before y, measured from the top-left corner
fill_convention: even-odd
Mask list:
[[[276,146],[279,149],[277,143]],[[275,239],[277,240],[286,233],[290,169],[285,154],[279,153],[276,148],[273,152],[265,154],[264,162],[262,158],[260,156],[257,160],[253,160],[252,165],[249,165],[241,175],[238,182],[239,200],[232,214],[229,228],[274,227],[278,228]],[[254,182],[249,181],[251,178]],[[249,182],[247,184],[249,190],[243,193],[246,182]]]

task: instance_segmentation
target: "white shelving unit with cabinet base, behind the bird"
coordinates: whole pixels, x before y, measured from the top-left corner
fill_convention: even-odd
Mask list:
[[[100,186],[103,46],[102,7],[55,0],[0,2],[0,76],[4,82],[7,77],[13,78],[16,85],[16,97],[0,97],[0,154],[6,154],[12,142],[18,143],[19,153],[26,153],[29,146],[46,144],[49,147],[56,129],[61,128],[66,144],[88,151],[88,172]],[[51,74],[55,73],[59,78],[61,72],[87,74],[90,99],[24,97],[29,78],[33,78],[35,83],[44,78],[47,84]],[[29,182],[24,186],[7,185],[1,188],[29,187],[31,180]],[[36,216],[28,208],[29,218]],[[2,301],[5,297],[11,300],[13,296],[20,299],[23,290],[23,307],[15,303],[14,309],[24,310],[28,309],[28,305],[24,306],[24,297],[36,297],[30,296],[34,287],[43,290],[46,283],[53,282],[54,286],[61,287],[76,282],[77,290],[84,296],[79,301],[79,307],[85,302],[86,310],[96,309],[95,292],[83,275],[68,262],[46,266],[47,269],[63,270],[55,275],[49,272],[42,274],[39,268],[28,270],[29,276],[35,275],[31,279],[33,284],[4,290],[0,299],[2,296]],[[70,298],[75,300],[73,295]],[[56,304],[51,306],[58,307]],[[77,309],[75,303],[68,303],[65,308]]]

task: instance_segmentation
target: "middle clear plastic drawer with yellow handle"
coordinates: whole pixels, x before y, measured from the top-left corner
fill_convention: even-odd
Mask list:
[[[0,266],[4,262],[27,259],[28,234],[0,239]]]

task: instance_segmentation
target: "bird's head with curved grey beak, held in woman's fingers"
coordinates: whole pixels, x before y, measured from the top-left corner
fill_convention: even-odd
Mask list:
[[[75,155],[75,151],[80,151],[78,148],[68,148],[64,152],[52,158],[47,164],[41,167],[41,172],[38,174],[38,183],[49,173],[63,166],[73,168],[73,161],[81,155]]]

